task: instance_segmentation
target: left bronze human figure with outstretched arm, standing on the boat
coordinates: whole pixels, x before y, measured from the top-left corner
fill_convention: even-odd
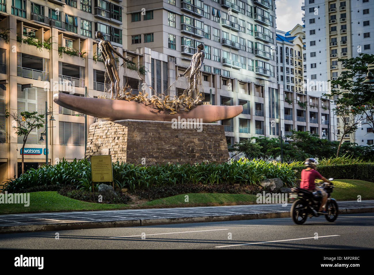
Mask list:
[[[130,61],[128,58],[125,58],[117,52],[111,43],[107,40],[105,40],[104,35],[101,31],[96,31],[96,38],[100,39],[99,42],[99,51],[101,52],[102,59],[104,60],[105,68],[107,70],[109,79],[110,79],[110,98],[117,99],[119,97],[119,83],[120,83],[120,77],[118,74],[116,59],[114,58],[113,53],[116,53],[118,56],[120,56],[125,62],[130,62],[134,64],[132,61]],[[123,64],[122,64],[123,65]],[[122,66],[121,65],[121,66]]]

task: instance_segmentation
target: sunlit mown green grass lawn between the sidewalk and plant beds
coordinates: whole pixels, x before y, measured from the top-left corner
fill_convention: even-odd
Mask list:
[[[333,183],[335,188],[332,198],[338,201],[353,201],[358,195],[361,195],[362,200],[374,199],[374,183],[363,180],[334,180]],[[188,202],[185,202],[186,195]],[[255,204],[256,199],[256,195],[248,194],[188,193],[138,205],[99,204],[70,199],[55,191],[49,191],[30,193],[28,207],[24,207],[23,204],[0,204],[0,214]]]

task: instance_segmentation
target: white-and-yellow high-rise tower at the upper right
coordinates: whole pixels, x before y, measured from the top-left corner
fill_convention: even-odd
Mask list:
[[[328,80],[344,70],[338,58],[352,58],[361,52],[374,53],[373,0],[306,0],[305,44],[307,92],[321,96],[330,92]],[[334,119],[333,112],[330,117]],[[337,120],[334,135],[341,138],[343,121]],[[355,133],[344,136],[344,142],[372,144],[373,129],[362,126]]]

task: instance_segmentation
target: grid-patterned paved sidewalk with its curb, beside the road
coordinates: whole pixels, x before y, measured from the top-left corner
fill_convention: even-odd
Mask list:
[[[374,200],[338,202],[339,213],[374,212]],[[289,217],[291,204],[153,208],[0,215],[0,233]]]

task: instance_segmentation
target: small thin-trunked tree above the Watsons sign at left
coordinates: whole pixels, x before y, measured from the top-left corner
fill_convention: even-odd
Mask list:
[[[15,134],[19,137],[23,136],[22,144],[22,174],[25,172],[24,169],[24,148],[27,142],[28,135],[35,129],[40,129],[44,127],[43,118],[44,114],[37,114],[36,111],[28,112],[24,111],[19,114],[13,113],[10,114],[6,112],[6,117],[11,116],[14,119],[12,127],[15,129]]]

